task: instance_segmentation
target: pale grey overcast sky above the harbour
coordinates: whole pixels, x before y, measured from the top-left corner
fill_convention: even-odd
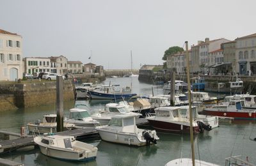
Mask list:
[[[0,0],[0,29],[22,36],[23,57],[63,55],[131,69],[132,50],[139,69],[163,64],[164,51],[186,40],[256,33],[255,6],[255,0]]]

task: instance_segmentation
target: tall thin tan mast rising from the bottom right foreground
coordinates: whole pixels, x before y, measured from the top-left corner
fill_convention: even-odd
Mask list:
[[[185,41],[185,43],[186,43],[188,87],[190,87],[188,41]],[[188,102],[189,102],[190,142],[191,142],[191,151],[192,151],[192,162],[193,162],[193,166],[195,166],[195,146],[194,146],[194,137],[193,137],[193,121],[192,121],[192,111],[191,111],[191,89],[190,88],[188,88]]]

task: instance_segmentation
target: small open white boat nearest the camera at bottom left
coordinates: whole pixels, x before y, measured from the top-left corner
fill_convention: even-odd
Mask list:
[[[44,155],[62,160],[94,160],[98,151],[97,147],[77,141],[72,136],[38,135],[34,138],[34,142],[38,144]]]

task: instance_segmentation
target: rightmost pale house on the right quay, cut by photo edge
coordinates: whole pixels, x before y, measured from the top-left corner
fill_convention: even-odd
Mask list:
[[[256,33],[236,38],[236,72],[256,73]]]

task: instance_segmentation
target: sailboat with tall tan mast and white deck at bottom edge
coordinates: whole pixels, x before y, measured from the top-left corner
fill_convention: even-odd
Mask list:
[[[188,56],[188,41],[186,43],[186,63],[187,63],[187,77],[188,77],[188,87],[190,87],[190,78],[189,78],[189,56]],[[171,160],[170,162],[166,163],[166,166],[173,166],[173,165],[200,165],[200,166],[218,166],[214,163],[204,162],[201,160],[195,160],[195,147],[194,147],[194,137],[193,137],[193,118],[192,118],[192,109],[191,109],[191,89],[188,89],[188,101],[189,101],[189,121],[190,121],[190,141],[191,141],[191,153],[192,158],[178,158],[175,160]]]

